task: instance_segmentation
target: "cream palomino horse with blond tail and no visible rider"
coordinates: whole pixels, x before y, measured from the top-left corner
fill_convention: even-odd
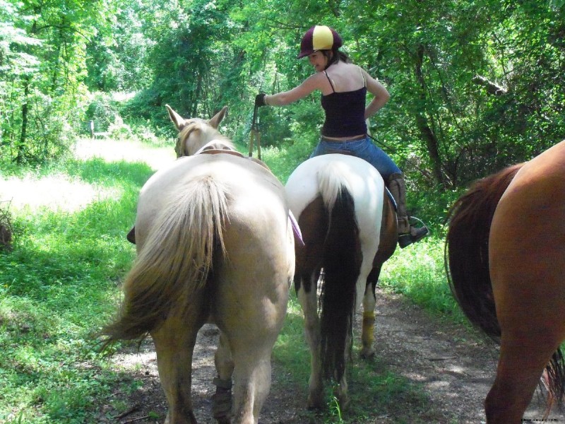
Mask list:
[[[191,156],[159,170],[141,189],[138,257],[124,282],[119,318],[103,334],[106,343],[150,334],[169,405],[166,423],[196,423],[192,355],[198,329],[214,322],[215,418],[256,424],[295,269],[284,187],[220,135],[225,108],[209,121],[167,109],[179,130],[177,153]]]

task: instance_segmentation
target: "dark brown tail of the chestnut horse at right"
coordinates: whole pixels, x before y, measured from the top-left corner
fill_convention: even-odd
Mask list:
[[[500,337],[489,274],[489,232],[494,210],[523,164],[478,180],[448,213],[444,261],[456,301],[472,324]]]

